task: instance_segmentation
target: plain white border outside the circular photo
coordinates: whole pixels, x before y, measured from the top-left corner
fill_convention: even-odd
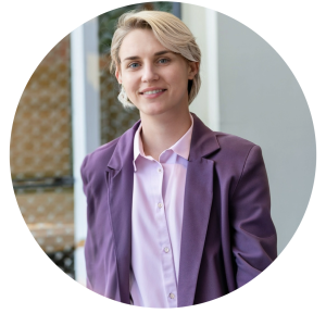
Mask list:
[[[285,251],[231,294],[174,310],[128,306],[71,280],[47,259],[24,223],[10,177],[10,135],[33,72],[66,34],[112,10],[106,1],[5,1],[1,5],[1,315],[2,325],[322,325],[325,323],[325,1],[187,1],[217,10],[263,37],[297,77],[317,141],[313,195]],[[123,7],[131,1],[118,1]],[[309,3],[309,4],[308,4]]]

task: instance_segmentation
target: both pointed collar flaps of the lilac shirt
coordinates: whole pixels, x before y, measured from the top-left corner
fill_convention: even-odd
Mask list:
[[[193,128],[193,117],[191,114],[190,114],[190,118],[191,118],[190,128],[179,140],[177,140],[173,146],[171,146],[168,148],[168,149],[173,150],[179,156],[184,158],[185,160],[188,160],[189,153],[190,153],[190,142],[191,142],[192,128]],[[142,128],[142,126],[140,123],[139,127],[135,134],[135,137],[134,137],[134,161],[133,161],[133,163],[134,163],[135,171],[137,171],[135,162],[136,162],[138,155],[145,156],[142,141],[141,141],[141,137],[140,137],[141,128]]]

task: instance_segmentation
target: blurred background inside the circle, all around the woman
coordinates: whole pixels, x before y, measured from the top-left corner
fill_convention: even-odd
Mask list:
[[[297,230],[311,196],[316,149],[303,92],[289,67],[254,32],[215,11],[179,2],[120,8],[64,37],[30,77],[11,136],[11,173],[22,215],[46,254],[86,284],[85,155],[139,120],[117,101],[109,73],[114,26],[133,9],[180,17],[202,51],[202,87],[191,103],[210,128],[262,147],[278,252]]]

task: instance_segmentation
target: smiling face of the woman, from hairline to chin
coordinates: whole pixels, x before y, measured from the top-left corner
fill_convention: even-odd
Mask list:
[[[174,114],[188,109],[188,79],[199,64],[164,48],[150,29],[131,30],[124,38],[115,72],[140,115]]]

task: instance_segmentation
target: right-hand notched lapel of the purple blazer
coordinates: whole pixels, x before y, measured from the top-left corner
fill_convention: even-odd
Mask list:
[[[220,149],[215,134],[192,115],[193,130],[184,200],[178,306],[193,304],[213,199],[215,163],[204,156]]]

